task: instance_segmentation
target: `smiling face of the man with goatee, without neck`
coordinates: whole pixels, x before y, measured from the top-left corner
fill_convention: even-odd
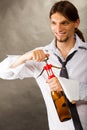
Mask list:
[[[74,30],[78,27],[79,22],[71,22],[60,13],[54,13],[51,18],[51,29],[54,36],[59,42],[67,42],[74,36]]]

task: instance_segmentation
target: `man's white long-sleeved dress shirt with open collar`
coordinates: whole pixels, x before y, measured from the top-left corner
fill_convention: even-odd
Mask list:
[[[41,47],[45,52],[49,53],[49,60],[48,63],[61,67],[61,63],[59,62],[56,55],[60,56],[60,58],[64,61],[62,55],[58,51],[58,49],[55,46],[55,40],[53,40],[49,45],[45,47]],[[73,56],[73,58],[68,61],[66,64],[66,68],[69,74],[69,79],[62,80],[63,78],[59,77],[60,69],[52,68],[55,76],[57,76],[65,90],[68,90],[68,86],[70,86],[71,89],[68,90],[69,92],[75,92],[77,95],[72,96],[72,100],[77,101],[77,108],[78,112],[82,122],[82,125],[84,127],[84,130],[87,130],[87,43],[83,43],[78,36],[76,36],[76,43],[75,46],[70,50],[69,54],[72,53],[74,50],[77,50],[76,54]],[[68,54],[68,55],[69,55]],[[11,69],[9,66],[15,62],[18,55],[11,55],[8,56],[6,59],[4,59],[0,63],[0,78],[2,79],[23,79],[26,77],[33,77],[36,79],[38,86],[40,87],[40,90],[42,92],[46,108],[47,108],[47,114],[48,114],[48,122],[49,122],[49,130],[75,130],[73,126],[72,119],[60,122],[58,114],[56,112],[56,108],[54,106],[51,94],[50,94],[50,88],[48,84],[46,83],[47,73],[46,71],[43,72],[43,74],[37,78],[37,76],[41,73],[43,67],[45,66],[45,62],[36,62],[33,60],[27,61],[26,63],[23,63],[19,65],[18,67]],[[63,82],[64,81],[64,82]],[[67,82],[67,83],[65,83]],[[74,85],[74,86],[73,86]],[[64,91],[65,91],[64,90]],[[73,91],[74,90],[74,91]],[[67,91],[66,91],[67,94]],[[67,95],[68,97],[69,95]],[[79,101],[81,100],[81,102]],[[83,104],[83,102],[85,102]],[[81,110],[84,113],[84,116],[82,117]]]

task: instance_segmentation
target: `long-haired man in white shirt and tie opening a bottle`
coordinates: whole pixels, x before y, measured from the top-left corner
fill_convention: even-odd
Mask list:
[[[79,23],[78,11],[72,3],[68,1],[55,3],[50,10],[50,24],[54,34],[51,44],[36,48],[22,56],[9,56],[0,64],[0,77],[3,79],[26,77],[36,79],[46,103],[50,130],[87,130],[86,117],[81,122],[82,124],[80,123],[83,128],[79,128],[78,121],[75,120],[77,116],[80,116],[80,112],[74,119],[72,117],[68,121],[61,122],[51,97],[53,91],[64,91],[71,102],[67,91],[73,92],[74,89],[75,94],[72,96],[72,100],[79,102],[79,108],[87,107],[87,102],[84,105],[82,103],[87,97],[87,43],[84,42],[84,37],[78,30]],[[48,79],[46,71],[40,75],[45,66],[46,57],[48,57],[48,63],[62,68],[62,63],[65,63],[73,52],[72,58],[64,66],[67,69],[68,77],[61,78],[61,69],[57,68],[53,68],[55,77],[51,79]],[[71,113],[73,115],[73,111]]]

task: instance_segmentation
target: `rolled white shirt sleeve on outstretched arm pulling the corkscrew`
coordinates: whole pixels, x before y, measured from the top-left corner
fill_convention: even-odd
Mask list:
[[[15,62],[15,60],[19,56],[16,55],[11,55],[5,58],[1,63],[0,63],[0,78],[2,79],[7,79],[7,80],[12,80],[12,79],[23,79],[25,77],[35,77],[36,73],[33,73],[35,68],[31,65],[32,61],[23,63],[19,65],[16,68],[10,68],[11,64]],[[29,64],[29,67],[27,66]]]

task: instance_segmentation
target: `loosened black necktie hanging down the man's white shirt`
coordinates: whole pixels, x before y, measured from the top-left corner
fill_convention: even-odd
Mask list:
[[[66,69],[66,64],[74,56],[75,53],[76,53],[76,51],[71,53],[66,58],[65,62],[63,62],[61,60],[61,58],[59,56],[57,56],[60,63],[62,64],[62,68],[60,70],[60,76],[61,77],[69,78],[68,72],[67,72],[67,69]],[[79,118],[79,115],[78,115],[78,112],[77,112],[76,104],[70,103],[68,99],[67,99],[67,102],[68,102],[68,105],[69,105],[69,108],[70,108],[70,112],[71,112],[71,116],[72,116],[72,120],[73,120],[75,130],[83,130],[82,125],[81,125],[81,121],[80,121],[80,118]]]

